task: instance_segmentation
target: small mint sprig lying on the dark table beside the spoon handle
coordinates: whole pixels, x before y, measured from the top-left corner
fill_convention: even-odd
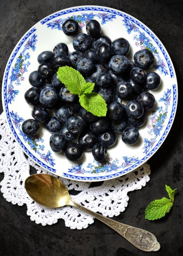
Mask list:
[[[174,190],[171,187],[165,185],[169,198],[163,197],[162,199],[154,200],[151,202],[145,210],[145,219],[157,220],[165,216],[173,206],[174,196],[177,193],[177,188]]]

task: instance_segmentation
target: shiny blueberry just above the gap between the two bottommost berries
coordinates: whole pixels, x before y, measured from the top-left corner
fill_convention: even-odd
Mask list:
[[[92,131],[84,131],[80,134],[78,138],[78,143],[80,146],[86,150],[90,151],[93,146],[98,142],[98,136]]]

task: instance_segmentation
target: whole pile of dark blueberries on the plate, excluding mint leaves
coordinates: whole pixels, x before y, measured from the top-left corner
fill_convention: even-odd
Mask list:
[[[156,103],[145,90],[157,89],[160,76],[144,72],[154,64],[151,51],[140,50],[134,54],[134,62],[128,60],[129,42],[124,38],[111,42],[108,36],[101,35],[96,20],[87,23],[87,34],[78,34],[78,23],[72,19],[66,20],[62,29],[66,35],[75,36],[75,51],[69,53],[65,43],[58,43],[53,52],[39,54],[40,65],[30,74],[32,87],[25,93],[26,102],[34,106],[34,119],[24,121],[22,130],[34,136],[39,123],[45,123],[52,133],[52,151],[64,152],[70,161],[78,161],[83,150],[92,150],[95,160],[101,162],[107,156],[106,149],[116,143],[116,133],[122,133],[127,145],[138,141],[137,128],[146,122],[145,111],[152,110]],[[107,103],[106,117],[97,117],[81,107],[78,95],[71,94],[58,79],[58,68],[66,65],[81,72],[86,82],[95,83],[94,92]],[[52,109],[56,109],[55,115],[53,111],[49,113]]]

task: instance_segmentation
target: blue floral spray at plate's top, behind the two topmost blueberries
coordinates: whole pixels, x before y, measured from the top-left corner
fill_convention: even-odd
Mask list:
[[[56,19],[55,21],[51,21],[47,23],[48,28],[51,29],[58,29],[62,30],[62,23],[66,19],[74,19],[78,22],[79,28],[82,30],[84,26],[86,26],[86,22],[90,21],[91,19],[94,19],[95,17],[98,17],[101,19],[101,24],[105,24],[106,22],[112,21],[112,19],[115,19],[115,14],[107,14],[107,13],[81,13],[81,15],[72,15],[70,17],[67,17],[65,19]]]

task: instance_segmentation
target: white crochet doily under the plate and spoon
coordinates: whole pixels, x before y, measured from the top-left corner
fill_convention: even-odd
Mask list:
[[[4,198],[12,204],[27,205],[27,215],[37,224],[52,225],[58,219],[65,221],[65,226],[72,229],[87,228],[94,218],[80,210],[65,206],[48,209],[35,203],[26,193],[24,181],[30,175],[30,165],[37,173],[48,173],[38,167],[30,158],[26,158],[23,150],[14,140],[6,123],[4,113],[0,115],[0,172],[4,179],[0,185]],[[49,173],[50,174],[50,173]],[[72,199],[83,206],[101,213],[104,216],[118,216],[125,210],[129,197],[128,191],[141,189],[149,181],[150,166],[145,163],[134,172],[120,178],[104,181],[102,185],[90,187],[90,182],[72,181],[60,178],[68,190],[78,191]]]

